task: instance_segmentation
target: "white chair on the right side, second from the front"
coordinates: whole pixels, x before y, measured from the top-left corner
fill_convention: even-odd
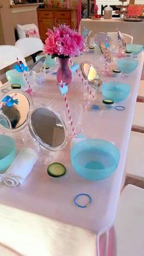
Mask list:
[[[144,134],[131,131],[129,138],[126,176],[144,181]]]

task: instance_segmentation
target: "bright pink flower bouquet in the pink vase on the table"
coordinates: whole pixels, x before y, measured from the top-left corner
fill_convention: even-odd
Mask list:
[[[45,54],[50,54],[52,58],[59,57],[66,59],[69,57],[79,56],[84,49],[84,39],[70,26],[59,25],[53,30],[48,29],[46,33],[48,38],[45,40]]]

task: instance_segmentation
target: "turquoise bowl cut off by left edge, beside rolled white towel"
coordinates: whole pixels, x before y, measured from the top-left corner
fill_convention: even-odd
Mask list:
[[[0,135],[0,173],[4,172],[15,158],[15,141],[12,137]]]

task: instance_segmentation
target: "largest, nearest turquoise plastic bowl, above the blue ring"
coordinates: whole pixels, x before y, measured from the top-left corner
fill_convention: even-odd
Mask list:
[[[103,180],[117,169],[120,152],[111,142],[86,139],[71,148],[71,163],[87,180]]]

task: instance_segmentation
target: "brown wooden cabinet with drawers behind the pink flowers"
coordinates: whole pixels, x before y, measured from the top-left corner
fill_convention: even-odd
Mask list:
[[[37,9],[38,28],[40,38],[46,40],[46,31],[59,24],[70,25],[72,29],[77,28],[76,9]]]

